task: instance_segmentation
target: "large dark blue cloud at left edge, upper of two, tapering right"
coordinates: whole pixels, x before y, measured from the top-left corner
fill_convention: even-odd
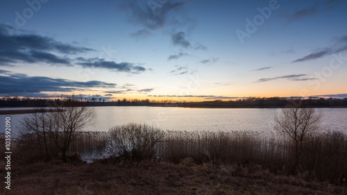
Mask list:
[[[69,65],[69,60],[51,52],[77,54],[94,49],[63,44],[51,37],[35,35],[27,31],[14,31],[11,26],[0,24],[0,64],[16,62],[47,62]]]

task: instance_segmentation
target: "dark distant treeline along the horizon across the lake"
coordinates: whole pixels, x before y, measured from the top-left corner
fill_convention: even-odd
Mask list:
[[[81,99],[0,99],[0,107],[52,107],[52,106],[157,106],[185,108],[285,108],[290,105],[312,108],[347,108],[347,99],[287,99],[280,97],[248,98],[237,101],[175,102],[146,100],[81,101]]]

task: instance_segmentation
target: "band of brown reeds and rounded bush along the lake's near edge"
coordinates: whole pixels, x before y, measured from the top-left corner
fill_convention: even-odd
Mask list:
[[[140,126],[139,130],[137,127]],[[26,162],[42,159],[40,157],[45,154],[40,153],[40,145],[43,144],[37,142],[35,135],[26,135],[15,143],[16,156],[21,156]],[[54,148],[49,151],[50,155],[58,155]],[[306,137],[295,171],[291,139],[253,131],[172,131],[128,124],[111,128],[109,132],[76,133],[69,154],[78,153],[93,153],[95,157],[128,162],[181,163],[189,158],[197,164],[260,166],[273,173],[297,174],[306,180],[347,185],[347,135],[339,132]]]

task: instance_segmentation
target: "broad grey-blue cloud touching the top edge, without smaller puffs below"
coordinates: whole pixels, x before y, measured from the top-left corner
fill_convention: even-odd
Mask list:
[[[130,20],[149,29],[158,29],[177,22],[177,12],[185,6],[185,1],[126,0],[123,7],[130,13]]]

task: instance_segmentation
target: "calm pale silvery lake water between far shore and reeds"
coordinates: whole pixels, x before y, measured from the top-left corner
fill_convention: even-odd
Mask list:
[[[252,130],[265,134],[273,132],[273,119],[280,111],[258,108],[160,107],[95,107],[95,110],[95,123],[85,130],[108,131],[112,126],[136,122],[164,130]],[[347,133],[347,108],[317,110],[323,114],[321,130],[341,130]],[[15,127],[24,116],[0,115],[1,132],[4,130],[5,117],[11,117],[12,133],[15,133]]]

